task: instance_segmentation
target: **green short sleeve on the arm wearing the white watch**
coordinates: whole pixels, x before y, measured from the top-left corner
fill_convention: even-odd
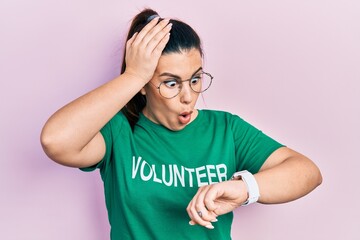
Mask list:
[[[271,153],[284,146],[239,116],[233,115],[232,128],[237,171],[257,173]]]

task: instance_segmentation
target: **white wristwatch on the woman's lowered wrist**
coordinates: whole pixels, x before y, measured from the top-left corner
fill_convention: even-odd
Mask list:
[[[246,202],[242,204],[243,206],[249,205],[259,200],[260,197],[259,186],[256,182],[254,175],[252,175],[249,171],[244,170],[244,171],[236,172],[231,177],[231,180],[243,180],[246,185],[249,197],[246,200]]]

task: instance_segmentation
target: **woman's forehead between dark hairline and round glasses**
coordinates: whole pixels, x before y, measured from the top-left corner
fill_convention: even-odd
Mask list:
[[[181,77],[189,77],[202,66],[199,50],[191,49],[181,53],[168,53],[160,57],[155,75],[171,73]]]

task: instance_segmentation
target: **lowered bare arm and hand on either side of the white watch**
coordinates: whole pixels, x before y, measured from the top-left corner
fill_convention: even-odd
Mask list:
[[[284,203],[300,198],[322,182],[318,167],[307,157],[287,147],[274,151],[254,175],[260,203]],[[233,211],[247,200],[243,181],[225,181],[199,188],[187,211],[190,224],[213,228],[218,215]],[[202,217],[198,211],[201,211]]]

